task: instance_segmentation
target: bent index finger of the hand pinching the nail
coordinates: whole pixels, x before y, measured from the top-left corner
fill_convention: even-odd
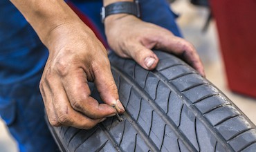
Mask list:
[[[62,79],[71,106],[84,115],[93,119],[109,117],[116,114],[116,110],[108,104],[100,104],[91,97],[91,91],[82,68],[75,68]]]

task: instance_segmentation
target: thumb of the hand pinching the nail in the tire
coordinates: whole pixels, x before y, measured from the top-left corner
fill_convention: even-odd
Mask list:
[[[111,73],[109,60],[104,61],[93,73],[95,75],[95,86],[103,102],[109,104],[109,106],[115,106],[118,113],[124,113],[125,108],[119,100],[118,88]]]

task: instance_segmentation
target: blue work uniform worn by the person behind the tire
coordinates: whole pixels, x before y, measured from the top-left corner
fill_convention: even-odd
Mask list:
[[[98,29],[102,0],[72,1]],[[165,0],[140,0],[143,21],[155,23],[181,36],[176,15]],[[106,40],[104,40],[106,41]],[[57,146],[44,120],[44,104],[39,93],[39,80],[48,50],[33,28],[9,0],[0,1],[0,115],[19,150],[57,151]]]

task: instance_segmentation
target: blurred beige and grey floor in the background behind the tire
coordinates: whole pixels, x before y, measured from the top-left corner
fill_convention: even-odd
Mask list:
[[[210,23],[207,32],[201,32],[205,19],[208,17],[208,10],[206,8],[192,6],[188,0],[176,0],[172,3],[172,9],[180,15],[177,22],[181,27],[185,39],[188,39],[188,41],[194,44],[201,56],[205,66],[207,79],[223,91],[223,93],[226,94],[254,124],[256,124],[256,99],[237,95],[227,88],[226,75],[223,68],[223,61],[219,50],[219,41],[214,21]],[[17,151],[17,144],[12,137],[10,137],[1,120],[0,151]]]

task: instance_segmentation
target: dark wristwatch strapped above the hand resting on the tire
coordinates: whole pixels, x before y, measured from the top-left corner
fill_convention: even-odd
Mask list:
[[[138,0],[134,2],[131,1],[119,1],[116,3],[111,3],[109,6],[102,7],[101,9],[101,21],[104,23],[104,19],[109,15],[115,15],[120,13],[126,13],[129,15],[134,15],[140,18],[140,6]]]

